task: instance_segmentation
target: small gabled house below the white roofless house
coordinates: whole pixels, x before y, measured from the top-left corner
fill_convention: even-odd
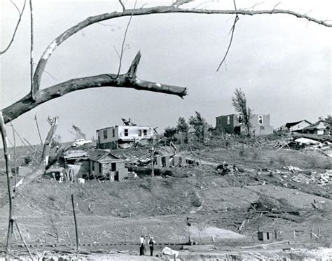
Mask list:
[[[125,160],[121,160],[105,150],[95,150],[89,153],[89,179],[122,181],[128,176]]]

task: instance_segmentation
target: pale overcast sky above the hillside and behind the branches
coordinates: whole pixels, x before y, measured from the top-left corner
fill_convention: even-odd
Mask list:
[[[22,6],[22,0],[14,0]],[[29,1],[27,1],[29,2]],[[129,8],[134,1],[124,1]],[[137,7],[170,4],[172,1],[137,1]],[[237,0],[237,8],[261,1]],[[255,7],[272,9],[276,1]],[[34,59],[59,34],[91,15],[121,10],[118,1],[34,0]],[[233,1],[195,1],[200,8],[230,8]],[[145,6],[145,7],[146,7]],[[29,10],[29,6],[26,7]],[[282,1],[277,8],[307,13],[332,20],[332,2]],[[18,12],[9,0],[0,1],[3,49],[11,36]],[[26,11],[27,11],[26,10]],[[29,13],[11,49],[0,57],[0,104],[4,108],[29,92]],[[116,73],[125,26],[129,17],[94,24],[72,36],[57,48],[41,80],[41,88],[64,80],[100,73]],[[71,125],[87,137],[95,130],[120,125],[120,118],[132,118],[138,125],[158,127],[162,132],[174,126],[180,116],[199,111],[212,125],[215,117],[234,113],[231,97],[235,88],[247,94],[254,113],[270,114],[271,125],[331,114],[332,29],[289,15],[240,16],[225,66],[216,67],[226,52],[233,15],[164,14],[133,17],[127,34],[122,72],[138,50],[141,62],[137,76],[144,80],[188,87],[184,100],[166,94],[102,87],[71,92],[34,108],[13,121],[18,132],[38,143],[34,115],[45,139],[48,115],[58,115],[57,134],[72,141]],[[332,21],[331,21],[332,22]],[[13,138],[10,136],[10,139]]]

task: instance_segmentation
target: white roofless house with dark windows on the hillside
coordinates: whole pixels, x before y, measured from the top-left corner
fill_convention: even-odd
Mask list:
[[[97,148],[130,148],[134,143],[148,143],[153,139],[153,127],[137,126],[123,119],[123,125],[97,129]]]

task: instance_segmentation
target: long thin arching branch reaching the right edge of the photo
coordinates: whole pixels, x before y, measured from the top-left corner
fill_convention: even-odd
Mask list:
[[[34,87],[36,90],[39,90],[39,86],[41,83],[41,76],[45,69],[45,66],[48,62],[48,59],[53,54],[55,49],[64,41],[67,40],[73,34],[76,34],[81,29],[88,27],[91,24],[95,24],[96,22],[102,22],[104,20],[110,20],[116,17],[123,17],[123,16],[131,16],[131,15],[153,15],[153,14],[160,14],[160,13],[196,13],[196,14],[217,14],[217,15],[275,15],[275,14],[285,14],[285,15],[293,15],[298,18],[306,19],[310,22],[314,22],[317,24],[324,25],[326,27],[332,27],[332,24],[326,22],[325,20],[318,20],[314,17],[310,17],[306,14],[300,14],[293,12],[291,10],[283,10],[283,9],[272,9],[272,10],[206,10],[206,9],[185,9],[185,8],[178,8],[177,6],[157,6],[152,8],[140,8],[140,9],[123,9],[122,12],[113,12],[113,13],[104,13],[102,15],[95,15],[92,17],[88,17],[87,19],[79,22],[78,24],[74,25],[64,31],[60,36],[57,36],[48,48],[43,52],[41,59],[36,67],[36,71],[34,73]]]

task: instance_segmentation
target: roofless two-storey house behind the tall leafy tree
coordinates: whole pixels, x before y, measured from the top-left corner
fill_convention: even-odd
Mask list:
[[[250,132],[254,135],[268,135],[273,133],[270,125],[270,114],[254,114],[250,118]],[[216,130],[228,134],[247,133],[242,115],[230,114],[216,117]]]

